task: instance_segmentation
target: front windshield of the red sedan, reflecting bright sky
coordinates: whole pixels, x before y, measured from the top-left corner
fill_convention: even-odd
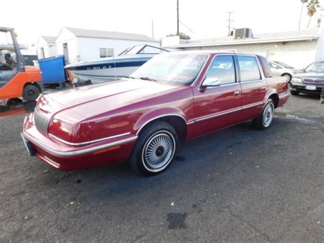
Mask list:
[[[176,84],[191,84],[198,76],[208,55],[163,53],[153,57],[133,73],[132,77]]]

